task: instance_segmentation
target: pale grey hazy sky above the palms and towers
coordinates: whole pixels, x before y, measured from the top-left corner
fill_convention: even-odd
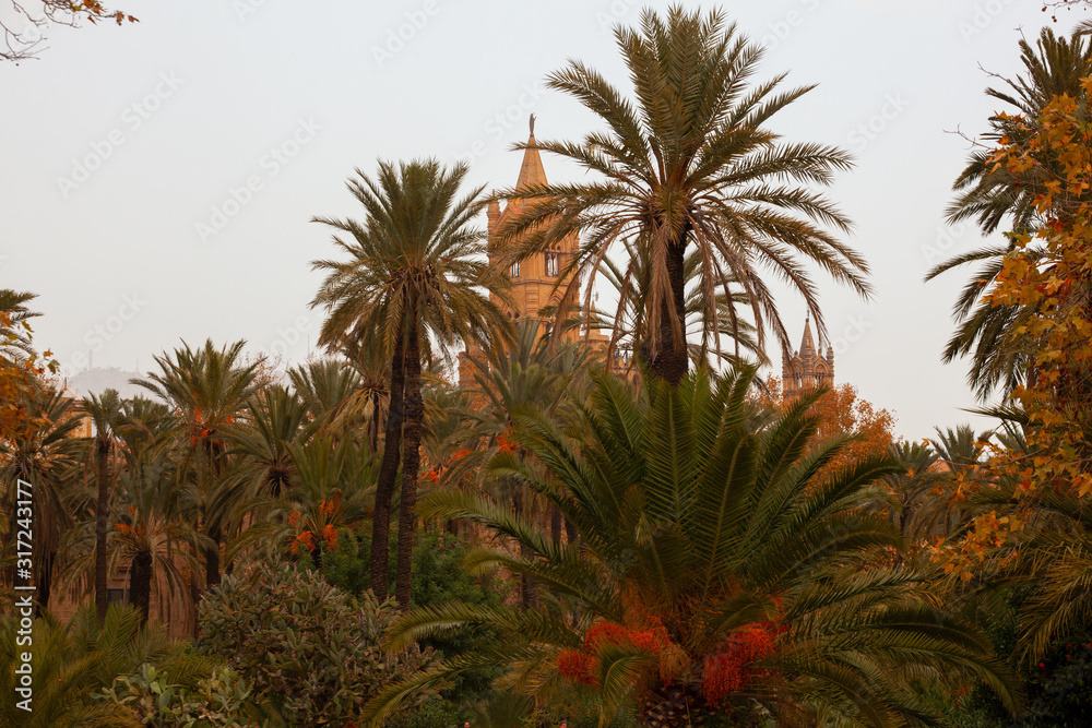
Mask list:
[[[310,261],[333,254],[308,220],[358,215],[353,169],[462,158],[475,184],[511,184],[529,114],[539,139],[594,124],[545,74],[579,58],[625,87],[609,29],[649,4],[668,3],[127,0],[139,24],[57,29],[40,60],[0,65],[0,287],[40,295],[37,343],[70,370],[90,351],[96,367],[146,370],[206,337],[301,360],[321,322]],[[911,439],[971,419],[965,365],[940,362],[970,273],[922,277],[982,242],[942,222],[968,148],[948,132],[984,129],[996,108],[980,65],[1018,70],[1020,33],[1051,22],[1042,2],[723,8],[765,43],[760,76],[819,84],[775,128],[857,158],[830,196],[856,223],[876,296],[817,274],[836,381],[894,410]],[[1057,31],[1083,17],[1061,13]],[[544,162],[553,180],[580,174]],[[779,303],[798,341],[803,303]]]

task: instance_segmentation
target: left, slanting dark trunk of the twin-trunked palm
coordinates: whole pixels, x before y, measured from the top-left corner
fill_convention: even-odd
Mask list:
[[[380,601],[387,600],[389,583],[387,558],[391,530],[391,497],[394,494],[394,478],[399,474],[399,454],[402,449],[402,407],[405,390],[405,361],[402,342],[394,344],[391,358],[391,404],[387,410],[387,435],[383,442],[383,460],[379,466],[376,484],[376,508],[371,514],[371,563],[369,578],[371,592]]]

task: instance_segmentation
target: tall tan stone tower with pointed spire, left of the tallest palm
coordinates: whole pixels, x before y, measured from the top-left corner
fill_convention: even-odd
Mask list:
[[[534,187],[543,187],[547,184],[546,170],[543,168],[542,156],[538,154],[538,146],[535,140],[535,119],[534,116],[531,117],[531,136],[527,139],[527,148],[523,152],[523,165],[520,167],[520,176],[515,182],[515,191],[527,190]],[[500,226],[513,214],[517,214],[522,205],[523,201],[520,198],[510,200],[508,204],[505,205],[503,211],[500,208],[500,203],[496,200],[489,203],[486,211],[488,217],[488,232],[489,232],[489,250],[494,251],[496,249],[495,242],[497,231]],[[560,278],[559,274],[565,270],[566,265],[571,260],[572,254],[577,251],[580,246],[580,237],[573,232],[568,236],[560,243],[554,246],[554,249],[545,252],[538,253],[532,258],[529,258],[520,263],[512,265],[508,270],[508,277],[512,282],[512,287],[510,289],[510,295],[512,298],[512,306],[506,305],[498,297],[494,296],[492,300],[497,306],[500,307],[501,311],[512,320],[513,323],[522,321],[525,317],[531,317],[532,319],[539,319],[539,311],[548,306],[556,307],[558,299],[562,295],[563,286],[566,286],[569,281],[567,278]],[[489,262],[496,261],[496,255],[494,252],[489,253]],[[555,286],[558,282],[561,282],[561,286],[558,287],[555,293]],[[544,332],[539,332],[539,336]],[[598,334],[598,332],[593,332],[593,334]],[[567,341],[575,341],[579,338],[580,333],[577,331],[567,332],[565,338]],[[598,338],[598,336],[593,336]],[[470,362],[468,358],[478,358],[484,355],[480,349],[473,344],[470,344],[466,351],[459,355],[459,382],[460,384],[466,385],[474,381],[474,367]]]

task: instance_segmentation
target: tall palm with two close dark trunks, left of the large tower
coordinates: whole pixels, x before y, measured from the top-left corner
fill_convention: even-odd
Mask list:
[[[321,260],[328,272],[312,306],[329,312],[320,343],[333,348],[376,349],[391,357],[391,406],[376,490],[371,539],[371,583],[385,597],[390,503],[402,449],[399,559],[395,596],[410,604],[410,557],[424,401],[422,359],[432,346],[448,354],[460,341],[496,341],[507,320],[480,293],[497,291],[506,278],[483,259],[482,231],[472,222],[480,211],[477,189],[459,198],[467,167],[444,169],[435,159],[380,162],[376,179],[357,170],[348,183],[364,205],[364,223],[316,218],[346,239],[334,241],[347,261]]]

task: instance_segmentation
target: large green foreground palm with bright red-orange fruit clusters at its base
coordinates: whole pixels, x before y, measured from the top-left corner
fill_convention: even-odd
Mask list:
[[[365,711],[372,725],[420,685],[486,663],[511,666],[502,684],[543,700],[565,680],[594,687],[601,725],[632,697],[644,726],[711,713],[739,725],[928,721],[913,681],[949,689],[971,677],[1012,708],[1016,680],[989,658],[985,634],[949,614],[924,574],[883,565],[900,535],[859,504],[898,465],[881,456],[820,479],[851,438],[817,441],[808,409],[821,393],[750,427],[755,375],[653,380],[634,401],[600,374],[571,437],[551,418],[518,417],[532,457],[503,455],[491,467],[561,510],[580,546],[471,494],[437,493],[425,510],[525,544],[530,557],[482,548],[466,565],[529,575],[558,606],[449,604],[403,616],[390,649],[461,625],[499,637],[384,692]]]

